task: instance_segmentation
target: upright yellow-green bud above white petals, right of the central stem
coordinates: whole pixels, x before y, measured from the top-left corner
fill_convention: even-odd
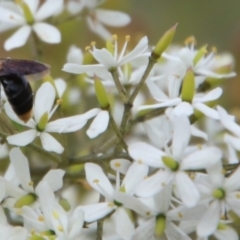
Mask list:
[[[195,93],[195,79],[192,69],[188,69],[182,85],[182,100],[192,102]]]

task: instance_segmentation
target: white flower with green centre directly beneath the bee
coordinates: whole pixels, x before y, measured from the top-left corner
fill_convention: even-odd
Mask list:
[[[55,96],[56,93],[52,84],[49,82],[42,84],[35,97],[33,108],[34,119],[30,119],[27,123],[21,121],[13,112],[10,104],[8,102],[6,103],[4,108],[7,115],[15,122],[31,128],[25,132],[7,137],[8,143],[17,146],[26,146],[39,136],[42,146],[46,151],[62,153],[64,148],[48,132],[66,133],[77,131],[87,123],[88,119],[94,117],[99,112],[99,109],[92,109],[82,115],[48,122],[57,108],[57,106],[55,106],[52,109]]]

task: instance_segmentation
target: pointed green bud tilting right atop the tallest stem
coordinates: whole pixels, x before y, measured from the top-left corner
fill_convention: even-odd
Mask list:
[[[160,38],[157,45],[155,46],[152,55],[157,59],[161,57],[162,53],[167,49],[167,47],[172,42],[172,39],[175,35],[177,24],[171,27],[164,35]]]

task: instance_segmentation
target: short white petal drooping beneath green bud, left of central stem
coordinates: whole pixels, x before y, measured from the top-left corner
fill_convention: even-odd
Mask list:
[[[101,133],[105,132],[108,127],[108,122],[109,122],[108,111],[99,112],[87,130],[88,137],[95,138]]]

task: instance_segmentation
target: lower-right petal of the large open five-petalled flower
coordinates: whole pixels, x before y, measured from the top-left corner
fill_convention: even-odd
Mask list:
[[[184,205],[189,208],[196,206],[200,199],[200,194],[189,176],[184,172],[178,172],[175,177],[175,183]]]

